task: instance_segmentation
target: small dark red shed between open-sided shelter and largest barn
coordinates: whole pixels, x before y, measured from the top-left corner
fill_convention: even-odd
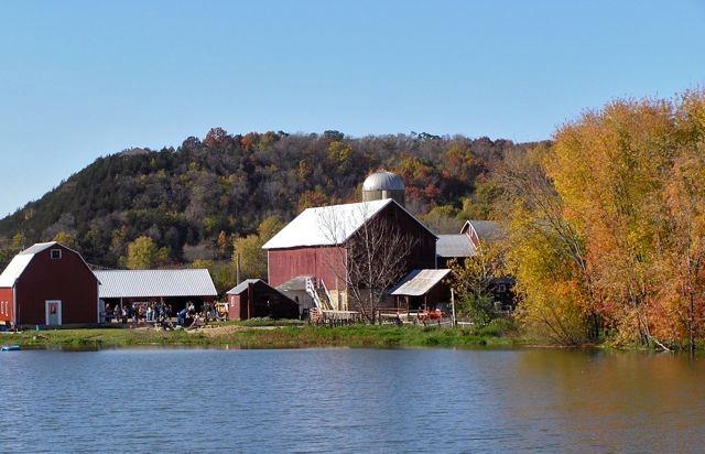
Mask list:
[[[227,292],[228,320],[299,318],[299,303],[261,279],[247,279]]]

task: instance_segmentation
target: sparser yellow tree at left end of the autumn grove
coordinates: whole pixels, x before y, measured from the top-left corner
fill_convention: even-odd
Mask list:
[[[597,340],[599,316],[590,298],[584,240],[563,217],[546,174],[551,150],[505,159],[498,172],[505,206],[509,271],[521,300],[518,321],[532,335],[562,345]]]

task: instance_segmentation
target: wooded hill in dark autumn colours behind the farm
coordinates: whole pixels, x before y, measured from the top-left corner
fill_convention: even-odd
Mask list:
[[[240,136],[214,128],[176,149],[99,158],[0,220],[0,267],[23,245],[52,239],[102,267],[228,261],[235,241],[257,250],[257,235],[308,206],[359,199],[362,181],[380,167],[403,177],[413,213],[454,229],[455,218],[489,216],[495,163],[528,147],[427,133]]]

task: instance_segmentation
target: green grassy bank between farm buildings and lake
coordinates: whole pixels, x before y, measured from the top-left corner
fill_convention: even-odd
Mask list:
[[[198,331],[153,328],[84,328],[4,333],[2,345],[28,347],[100,348],[130,346],[214,346],[236,348],[306,347],[471,347],[511,346],[522,340],[501,326],[485,329],[422,326],[310,325],[248,326],[223,324]]]

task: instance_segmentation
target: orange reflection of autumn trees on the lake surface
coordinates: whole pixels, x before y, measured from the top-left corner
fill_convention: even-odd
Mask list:
[[[530,350],[519,353],[513,372],[498,396],[509,400],[499,406],[508,423],[564,446],[677,447],[699,436],[705,418],[705,364],[686,357]]]

